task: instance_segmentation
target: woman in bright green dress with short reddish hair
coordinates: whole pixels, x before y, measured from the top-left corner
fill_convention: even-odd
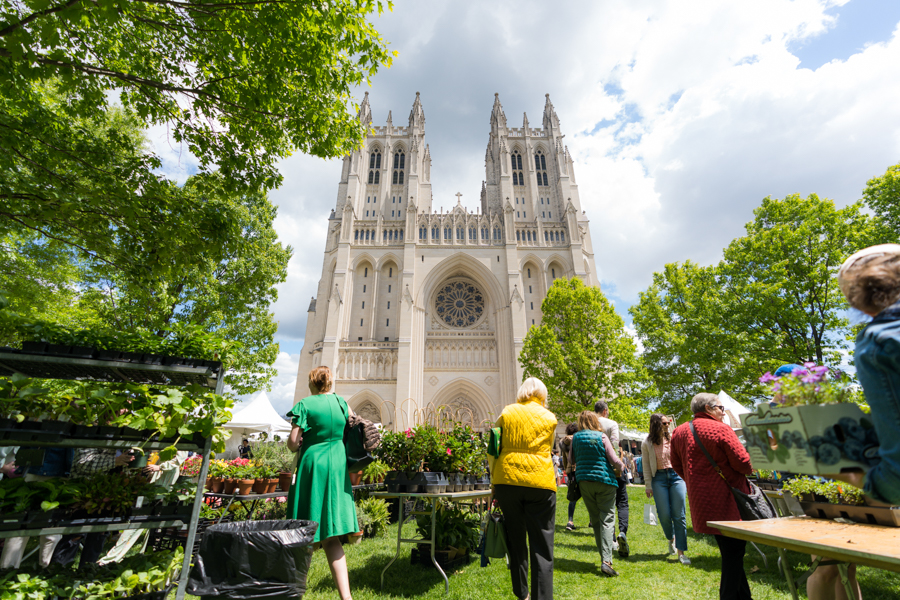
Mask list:
[[[322,542],[331,575],[342,600],[350,600],[347,559],[340,536],[356,533],[356,505],[347,473],[344,427],[350,418],[347,402],[331,393],[331,369],[309,373],[307,396],[288,413],[293,428],[291,452],[300,451],[297,472],[288,491],[287,516],[319,524],[315,542]]]

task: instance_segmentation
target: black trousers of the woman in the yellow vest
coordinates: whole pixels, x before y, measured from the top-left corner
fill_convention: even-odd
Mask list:
[[[494,497],[503,511],[513,594],[517,598],[528,595],[530,557],[531,600],[552,600],[556,492],[498,484]]]

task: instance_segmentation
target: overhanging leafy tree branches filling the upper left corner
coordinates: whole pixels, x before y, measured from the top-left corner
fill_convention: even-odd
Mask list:
[[[0,1],[0,236],[30,230],[150,282],[214,251],[239,227],[182,203],[140,132],[164,124],[230,192],[277,186],[296,150],[346,154],[364,135],[350,91],[391,62],[366,20],[381,9]]]

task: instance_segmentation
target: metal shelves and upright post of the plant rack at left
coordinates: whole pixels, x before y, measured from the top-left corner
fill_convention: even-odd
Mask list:
[[[94,358],[77,358],[71,356],[51,356],[26,352],[0,352],[0,376],[10,376],[20,373],[26,377],[37,379],[68,379],[80,381],[102,381],[109,383],[145,383],[153,385],[187,386],[198,383],[206,388],[214,389],[221,394],[225,388],[224,368],[190,367],[184,365],[154,365],[138,362],[126,362],[120,360],[99,360]],[[24,433],[24,432],[23,432]],[[47,442],[32,441],[30,439],[5,439],[4,446],[56,446],[70,448],[131,448],[138,443],[137,440],[115,439],[88,439],[68,438],[65,440]],[[146,442],[143,447],[147,450],[161,450],[170,446],[167,442]],[[203,463],[200,467],[200,475],[197,482],[194,506],[191,518],[186,523],[188,537],[185,543],[184,562],[181,565],[181,573],[178,578],[178,591],[176,600],[183,600],[190,574],[191,559],[193,558],[194,540],[197,537],[197,523],[200,518],[200,505],[203,503],[204,485],[209,470],[209,454],[212,439],[204,440],[203,445],[191,442],[176,444],[179,450],[188,450],[203,453]],[[182,519],[170,519],[166,521],[144,521],[139,523],[116,523],[110,525],[85,525],[75,527],[45,527],[42,529],[0,531],[0,538],[20,537],[27,535],[49,535],[70,533],[92,533],[101,531],[121,531],[124,529],[161,529],[184,524]]]

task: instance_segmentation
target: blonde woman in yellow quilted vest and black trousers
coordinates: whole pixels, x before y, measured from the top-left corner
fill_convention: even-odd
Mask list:
[[[500,457],[491,465],[491,483],[505,519],[513,594],[551,600],[556,471],[550,452],[556,416],[545,408],[547,386],[540,379],[526,379],[516,396],[516,404],[504,408],[495,425],[501,430]]]

